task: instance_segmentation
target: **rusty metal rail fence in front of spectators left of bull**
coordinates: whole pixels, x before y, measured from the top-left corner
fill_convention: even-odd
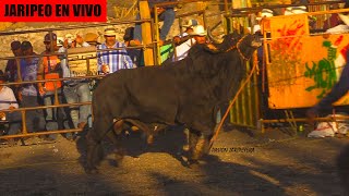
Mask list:
[[[196,0],[197,1],[197,0]],[[185,3],[185,2],[196,2],[196,1],[179,1],[177,3]],[[178,19],[193,15],[193,14],[202,14],[204,11],[195,11],[195,12],[188,12],[181,15],[177,15]],[[111,25],[121,25],[121,24],[135,24],[135,23],[151,23],[152,26],[157,26],[157,16],[155,19],[156,25],[154,25],[154,21],[152,19],[142,19],[142,20],[133,20],[133,21],[118,21],[118,22],[111,22],[111,23],[104,23],[104,24],[84,24],[84,25],[73,25],[73,26],[67,26],[67,27],[57,27],[57,28],[41,28],[41,29],[31,29],[31,30],[16,30],[16,32],[0,32],[0,37],[1,36],[9,36],[9,35],[20,35],[20,34],[31,34],[31,33],[52,33],[52,32],[59,32],[59,30],[68,30],[68,29],[79,29],[79,28],[91,28],[91,27],[101,27],[101,26],[111,26]],[[181,26],[181,23],[180,23]],[[158,29],[158,28],[157,28]],[[151,29],[152,32],[149,35],[153,34],[153,28]],[[156,30],[157,32],[157,30]],[[153,37],[153,41],[148,42],[146,45],[141,45],[137,47],[127,47],[125,49],[145,49],[149,48],[153,51],[159,51],[159,45],[158,45],[158,36]],[[166,42],[171,42],[171,41],[166,41]],[[52,47],[52,46],[51,46]],[[106,49],[106,50],[118,50],[118,49],[124,49],[124,48],[117,48],[117,49]],[[105,50],[95,50],[95,53],[98,51],[105,51]],[[154,52],[155,53],[155,52]],[[86,59],[87,61],[87,75],[85,76],[77,76],[77,77],[64,77],[64,78],[55,78],[55,79],[36,79],[36,81],[22,81],[21,78],[21,65],[20,65],[20,59],[22,58],[43,58],[43,57],[49,57],[49,56],[63,56],[63,54],[81,54],[80,52],[75,53],[61,53],[61,52],[50,52],[47,54],[36,54],[36,56],[22,56],[22,57],[4,57],[0,58],[0,60],[11,60],[15,59],[16,60],[16,66],[17,66],[17,75],[20,76],[19,82],[14,83],[5,83],[5,84],[0,84],[0,86],[12,86],[12,85],[25,85],[25,84],[37,84],[37,83],[46,83],[46,82],[64,82],[64,81],[73,81],[73,79],[100,79],[104,77],[104,75],[96,75],[97,73],[92,73],[89,71],[88,62],[92,59],[95,59],[96,56],[94,57],[88,57]],[[158,53],[157,53],[158,54]],[[155,59],[160,58],[158,56],[154,56]],[[158,60],[156,62],[159,62]],[[159,63],[155,63],[159,64]],[[152,64],[146,64],[146,65],[152,65]],[[84,106],[84,105],[91,105],[92,102],[75,102],[75,103],[62,103],[58,101],[58,88],[55,89],[55,103],[52,106],[39,106],[39,107],[26,107],[26,108],[17,108],[13,110],[1,110],[1,112],[21,112],[22,115],[22,131],[21,134],[16,135],[2,135],[0,136],[0,139],[9,139],[9,138],[16,138],[16,137],[28,137],[28,136],[38,136],[38,135],[49,135],[49,134],[62,134],[62,133],[72,133],[72,132],[81,132],[82,128],[70,128],[70,130],[52,130],[52,131],[44,131],[44,132],[35,132],[35,133],[28,133],[26,128],[26,111],[31,110],[44,110],[44,109],[52,109],[52,108],[71,108],[71,107],[79,107],[79,106]],[[0,123],[7,123],[7,121],[0,121]]]

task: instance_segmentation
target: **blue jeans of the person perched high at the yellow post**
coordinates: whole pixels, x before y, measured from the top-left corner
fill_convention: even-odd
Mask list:
[[[158,16],[158,19],[164,21],[164,25],[160,29],[160,39],[166,40],[166,37],[167,37],[168,33],[170,32],[171,26],[174,22],[176,12],[173,11],[173,9],[167,9]],[[140,14],[136,15],[136,20],[141,20]],[[142,42],[141,23],[139,23],[134,26],[133,38],[139,39]]]

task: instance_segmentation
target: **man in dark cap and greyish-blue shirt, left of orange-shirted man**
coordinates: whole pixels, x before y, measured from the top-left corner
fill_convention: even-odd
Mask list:
[[[39,58],[31,57],[36,56],[36,53],[33,51],[33,46],[29,41],[23,41],[21,49],[24,56],[23,59],[21,59],[22,81],[36,81]],[[22,108],[39,107],[38,97],[37,84],[23,84],[19,87],[19,100]],[[27,110],[25,114],[27,132],[45,130],[46,122],[44,111],[41,109]]]

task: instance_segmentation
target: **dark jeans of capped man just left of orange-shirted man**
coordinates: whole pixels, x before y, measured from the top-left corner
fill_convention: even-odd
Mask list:
[[[38,107],[40,106],[38,103],[37,96],[22,96],[22,108],[28,108],[28,107]],[[35,131],[45,131],[45,118],[44,118],[44,111],[40,110],[27,110],[25,112],[25,122],[26,122],[26,128],[27,132],[35,132]]]

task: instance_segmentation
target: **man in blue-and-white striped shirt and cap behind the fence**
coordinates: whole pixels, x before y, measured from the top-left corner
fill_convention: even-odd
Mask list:
[[[97,46],[97,65],[100,74],[117,72],[121,69],[132,69],[133,63],[124,49],[125,45],[116,39],[117,32],[115,28],[105,29],[106,42]],[[115,50],[108,50],[115,49]]]

